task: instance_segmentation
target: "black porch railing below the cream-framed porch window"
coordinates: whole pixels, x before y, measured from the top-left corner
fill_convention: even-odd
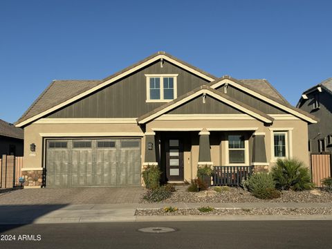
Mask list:
[[[214,186],[239,186],[252,174],[253,166],[214,166],[212,181]]]

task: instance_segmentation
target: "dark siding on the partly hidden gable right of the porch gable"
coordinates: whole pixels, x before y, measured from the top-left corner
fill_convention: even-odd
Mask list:
[[[219,87],[217,90],[223,93],[223,86]],[[239,100],[244,104],[248,104],[248,106],[262,111],[266,114],[286,114],[285,111],[282,111],[281,109],[278,109],[277,107],[274,107],[272,104],[264,102],[263,100],[259,100],[258,98],[255,98],[254,96],[249,95],[248,93],[245,93],[244,91],[241,91],[234,86],[228,85],[226,94],[229,95],[231,98]]]

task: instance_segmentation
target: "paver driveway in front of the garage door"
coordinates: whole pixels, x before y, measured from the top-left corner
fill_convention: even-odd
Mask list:
[[[143,187],[77,187],[15,190],[0,195],[0,205],[138,203]]]

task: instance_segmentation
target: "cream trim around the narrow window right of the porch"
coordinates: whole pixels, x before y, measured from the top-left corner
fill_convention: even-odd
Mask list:
[[[286,156],[275,157],[275,133],[285,134]],[[271,141],[271,160],[270,163],[276,163],[279,158],[292,158],[293,157],[293,128],[276,128],[270,129]]]

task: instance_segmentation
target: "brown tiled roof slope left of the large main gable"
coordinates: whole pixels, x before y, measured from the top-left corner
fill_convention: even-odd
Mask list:
[[[100,80],[53,80],[17,122],[42,113],[98,84],[100,84]]]

